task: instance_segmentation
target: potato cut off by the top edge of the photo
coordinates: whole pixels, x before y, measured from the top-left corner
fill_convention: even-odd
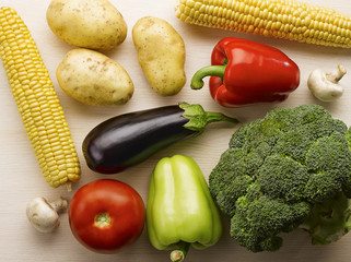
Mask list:
[[[127,36],[126,21],[107,0],[52,0],[46,19],[55,35],[77,47],[107,50]]]

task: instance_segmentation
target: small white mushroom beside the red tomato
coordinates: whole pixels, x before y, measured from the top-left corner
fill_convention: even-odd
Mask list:
[[[33,199],[26,207],[31,224],[40,233],[52,233],[59,225],[59,213],[67,210],[67,200],[60,198],[49,203],[44,198]]]

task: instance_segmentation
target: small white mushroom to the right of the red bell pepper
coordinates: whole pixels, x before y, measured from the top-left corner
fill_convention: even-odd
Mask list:
[[[307,86],[319,100],[334,102],[343,94],[343,87],[339,85],[339,81],[346,73],[347,70],[341,64],[330,73],[316,69],[309,74]]]

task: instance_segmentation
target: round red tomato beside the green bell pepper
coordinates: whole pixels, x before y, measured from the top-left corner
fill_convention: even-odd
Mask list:
[[[80,188],[69,205],[73,236],[100,253],[117,253],[141,235],[145,206],[127,183],[101,179]]]

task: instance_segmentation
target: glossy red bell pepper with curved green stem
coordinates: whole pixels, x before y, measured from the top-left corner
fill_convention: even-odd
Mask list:
[[[247,39],[220,40],[211,64],[195,73],[191,88],[201,88],[202,79],[211,75],[211,96],[224,107],[282,102],[300,84],[299,67],[286,55]]]

